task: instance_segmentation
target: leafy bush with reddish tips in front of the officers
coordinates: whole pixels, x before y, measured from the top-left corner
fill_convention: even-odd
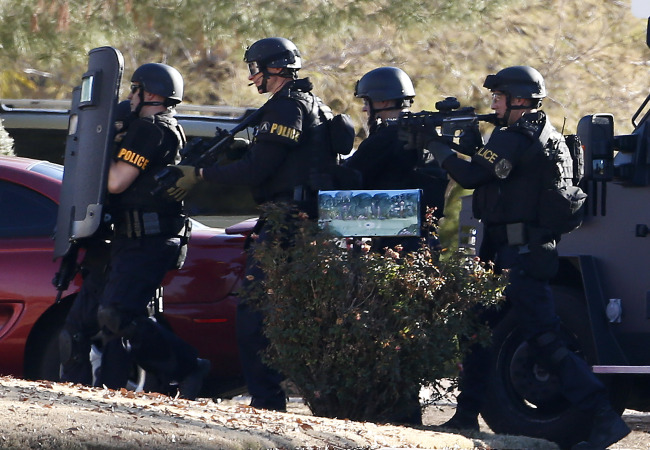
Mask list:
[[[427,248],[349,249],[304,214],[265,213],[270,238],[254,250],[265,277],[246,297],[264,312],[270,364],[314,414],[387,420],[405,395],[438,386],[468,342],[487,339],[473,311],[504,287],[489,267]]]

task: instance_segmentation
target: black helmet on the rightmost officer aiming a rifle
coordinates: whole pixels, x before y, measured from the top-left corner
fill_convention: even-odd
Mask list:
[[[546,97],[544,78],[530,66],[512,66],[488,75],[483,87],[493,91],[503,91],[512,98],[537,98]]]

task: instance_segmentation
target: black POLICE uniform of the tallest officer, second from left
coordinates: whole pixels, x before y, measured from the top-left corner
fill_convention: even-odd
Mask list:
[[[258,203],[292,202],[310,214],[316,212],[316,193],[310,178],[321,167],[335,162],[325,145],[324,123],[319,113],[320,99],[311,93],[309,79],[288,82],[263,108],[252,146],[243,159],[226,165],[203,169],[210,182],[251,186]],[[315,216],[314,216],[315,217]],[[256,242],[267,239],[258,223]],[[252,254],[247,259],[246,275],[261,279],[263,273]],[[264,364],[260,352],[268,346],[262,333],[263,316],[242,299],[237,309],[237,341],[251,406],[283,410],[285,393],[280,386],[283,376]]]

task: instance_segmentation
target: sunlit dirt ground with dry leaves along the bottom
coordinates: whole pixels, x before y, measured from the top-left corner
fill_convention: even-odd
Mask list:
[[[15,449],[557,449],[553,443],[493,434],[443,432],[453,406],[431,406],[419,428],[311,416],[300,402],[287,413],[244,399],[188,401],[80,385],[0,377],[0,448]],[[650,448],[650,414],[626,411],[633,433],[614,449]]]

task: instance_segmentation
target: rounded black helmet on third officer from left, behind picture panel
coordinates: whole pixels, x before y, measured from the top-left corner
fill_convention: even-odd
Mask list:
[[[374,102],[404,100],[415,97],[409,76],[397,67],[379,67],[361,77],[354,88],[355,97]]]

